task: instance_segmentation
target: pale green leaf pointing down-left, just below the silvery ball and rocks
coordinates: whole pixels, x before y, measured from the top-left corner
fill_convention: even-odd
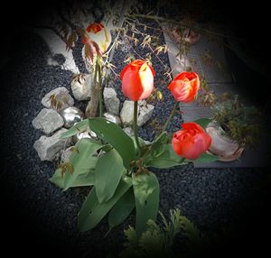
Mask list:
[[[65,173],[64,191],[72,186],[79,175],[86,174],[89,170],[95,169],[98,158],[93,156],[93,154],[101,148],[101,145],[93,143],[90,139],[83,138],[76,143],[75,147],[78,152],[73,152],[70,155],[73,172],[72,174]]]

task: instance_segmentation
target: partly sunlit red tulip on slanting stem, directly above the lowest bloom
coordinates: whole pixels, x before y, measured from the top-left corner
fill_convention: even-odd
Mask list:
[[[191,102],[200,89],[200,78],[195,72],[183,71],[168,86],[176,101]]]

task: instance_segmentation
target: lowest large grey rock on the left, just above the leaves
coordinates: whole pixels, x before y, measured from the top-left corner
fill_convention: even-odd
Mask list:
[[[67,131],[67,129],[62,128],[51,137],[42,135],[41,138],[33,144],[33,148],[38,152],[41,161],[53,161],[58,152],[70,146],[70,138],[61,139],[61,134]]]

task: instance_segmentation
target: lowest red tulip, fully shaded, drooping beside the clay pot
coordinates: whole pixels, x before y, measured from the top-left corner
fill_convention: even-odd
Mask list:
[[[183,158],[195,160],[206,152],[211,143],[209,134],[196,123],[183,123],[182,130],[173,134],[173,151]]]

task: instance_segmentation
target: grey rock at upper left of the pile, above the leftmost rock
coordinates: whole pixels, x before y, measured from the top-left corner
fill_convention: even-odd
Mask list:
[[[55,88],[51,90],[49,93],[47,93],[43,98],[42,98],[42,105],[47,107],[47,108],[52,108],[51,106],[51,100],[50,97],[54,95],[55,97],[59,98],[62,102],[61,108],[59,108],[57,111],[61,111],[64,108],[68,106],[73,106],[74,105],[74,100],[69,94],[69,90],[65,87],[60,87],[60,88]]]

